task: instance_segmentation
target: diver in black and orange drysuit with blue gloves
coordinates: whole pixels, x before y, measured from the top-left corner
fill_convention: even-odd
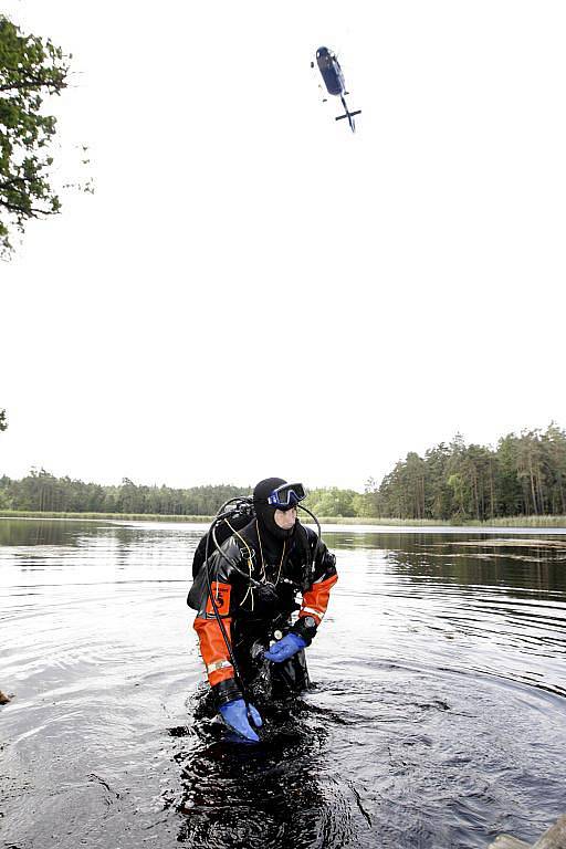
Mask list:
[[[255,727],[263,724],[251,699],[277,700],[308,688],[304,650],[338,579],[319,533],[297,520],[305,496],[301,483],[260,481],[251,504],[232,521],[222,514],[227,538],[219,541],[213,532],[220,524],[212,523],[195,555],[187,600],[198,611],[200,653],[218,710],[242,742],[259,742]]]

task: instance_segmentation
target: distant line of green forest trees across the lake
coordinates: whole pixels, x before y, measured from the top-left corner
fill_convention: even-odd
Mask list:
[[[32,470],[20,481],[0,478],[0,510],[65,513],[213,515],[249,488],[231,485],[171,489],[118,486],[55,478]],[[566,515],[566,431],[510,433],[496,448],[470,444],[461,436],[420,457],[409,452],[365,492],[337,488],[312,490],[306,505],[325,517],[403,520],[490,520],[506,516]]]

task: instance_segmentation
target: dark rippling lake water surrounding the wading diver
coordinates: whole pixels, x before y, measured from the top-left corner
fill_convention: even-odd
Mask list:
[[[1,847],[472,849],[566,811],[566,532],[325,534],[316,685],[235,747],[193,719],[202,530],[0,520]]]

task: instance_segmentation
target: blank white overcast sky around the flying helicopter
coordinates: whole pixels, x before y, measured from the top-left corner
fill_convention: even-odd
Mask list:
[[[566,426],[563,0],[3,9],[73,53],[96,193],[0,264],[0,473],[361,489]]]

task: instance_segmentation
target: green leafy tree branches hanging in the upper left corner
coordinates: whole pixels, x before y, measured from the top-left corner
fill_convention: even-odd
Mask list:
[[[52,186],[50,143],[56,119],[45,96],[67,85],[69,60],[49,39],[24,35],[0,15],[0,253],[12,251],[14,231],[60,211]]]

